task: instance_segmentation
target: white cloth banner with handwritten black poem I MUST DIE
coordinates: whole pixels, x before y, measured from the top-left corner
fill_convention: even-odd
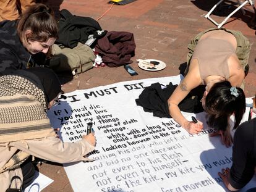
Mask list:
[[[204,123],[201,133],[190,135],[173,119],[153,117],[135,103],[152,83],[180,80],[126,81],[65,94],[67,99],[48,113],[53,127],[61,128],[62,140],[79,141],[89,122],[97,140],[90,155],[94,162],[64,165],[74,191],[228,191],[218,172],[231,167],[232,148],[209,137],[212,128]],[[195,116],[205,122],[204,113]],[[256,178],[242,191],[252,186]]]

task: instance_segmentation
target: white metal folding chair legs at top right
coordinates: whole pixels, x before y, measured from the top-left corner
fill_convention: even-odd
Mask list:
[[[215,8],[221,4],[221,2],[223,2],[224,0],[220,0],[217,4],[215,4],[215,6],[213,6],[211,8],[211,10],[208,12],[208,14],[205,15],[205,18],[209,19],[211,22],[213,22],[218,28],[221,28],[224,23],[226,23],[226,21],[233,15],[237,12],[237,10],[241,9],[243,14],[245,14],[244,10],[242,9],[243,6],[245,6],[245,4],[249,3],[251,6],[254,6],[254,0],[237,0],[237,3],[235,4],[239,4],[239,6],[233,11],[231,12],[231,14],[228,15],[228,17],[226,17],[223,22],[221,23],[217,23],[215,20],[213,20],[211,17],[210,17],[210,14],[211,12],[213,12],[213,10],[215,10]]]

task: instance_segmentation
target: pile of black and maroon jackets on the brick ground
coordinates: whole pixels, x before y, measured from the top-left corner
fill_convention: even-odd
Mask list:
[[[108,67],[119,67],[130,64],[135,55],[134,35],[126,31],[103,31],[100,24],[90,17],[80,17],[70,14],[66,9],[61,10],[59,19],[59,38],[56,44],[66,48],[75,48],[80,42],[85,44],[89,36],[96,41],[90,46],[95,53],[102,57]]]

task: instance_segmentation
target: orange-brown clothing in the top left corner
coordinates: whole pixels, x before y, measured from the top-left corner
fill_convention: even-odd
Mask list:
[[[33,4],[35,0],[0,0],[0,21],[19,19],[19,14]]]

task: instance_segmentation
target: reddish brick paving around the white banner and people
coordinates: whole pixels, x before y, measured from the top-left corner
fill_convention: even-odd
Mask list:
[[[203,16],[213,6],[212,0],[137,0],[126,6],[113,6],[100,20],[103,30],[129,31],[134,33],[135,50],[134,61],[131,66],[139,73],[131,77],[123,67],[101,67],[91,69],[74,78],[64,85],[66,92],[77,89],[87,89],[100,85],[108,85],[119,81],[136,80],[152,77],[166,77],[177,75],[179,66],[186,62],[187,44],[190,38],[198,32],[215,27],[213,23]],[[58,13],[59,9],[68,9],[72,14],[97,19],[111,6],[108,1],[97,0],[56,0],[46,1]],[[232,8],[231,8],[232,9]],[[218,12],[212,17],[221,21],[231,9]],[[253,96],[256,88],[256,46],[255,30],[249,27],[253,16],[252,7],[245,7],[245,15],[241,12],[234,15],[226,28],[240,30],[252,43],[249,64],[250,72],[245,78],[245,94]],[[147,72],[141,70],[136,59],[159,59],[167,65],[160,72]],[[80,83],[78,83],[80,82]],[[43,164],[38,166],[41,173],[54,180],[44,191],[72,191],[69,180],[61,165]]]

